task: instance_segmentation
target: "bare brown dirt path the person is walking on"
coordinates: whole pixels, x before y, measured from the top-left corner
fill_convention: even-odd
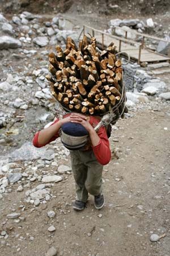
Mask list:
[[[5,225],[10,236],[8,246],[0,249],[1,255],[41,256],[51,246],[58,247],[58,255],[64,256],[170,254],[170,111],[166,105],[159,112],[145,110],[130,114],[133,117],[117,123],[118,130],[113,131],[110,139],[114,151],[112,161],[103,172],[104,209],[96,210],[90,196],[87,208],[74,212],[71,207],[74,199],[72,175],[54,185],[52,193],[56,199],[35,210],[24,201],[25,189],[18,193],[18,184],[14,185],[12,192],[0,203],[1,223],[9,209],[22,213],[25,221],[18,224],[9,220]],[[32,187],[38,184],[37,181],[31,183]],[[19,205],[25,205],[23,212]],[[56,217],[49,219],[48,210],[54,210]],[[56,227],[52,234],[47,230],[50,225]],[[166,237],[152,243],[149,240],[152,232],[165,233]],[[29,236],[34,240],[30,241]],[[17,246],[19,251],[16,251]]]

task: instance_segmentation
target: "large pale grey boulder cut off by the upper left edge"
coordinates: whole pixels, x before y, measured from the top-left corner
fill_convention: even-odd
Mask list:
[[[22,43],[11,36],[0,36],[0,50],[22,47]]]

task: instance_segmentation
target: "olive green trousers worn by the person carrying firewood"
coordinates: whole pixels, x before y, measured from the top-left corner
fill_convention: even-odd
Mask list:
[[[71,168],[75,179],[76,200],[86,203],[88,193],[102,193],[103,166],[97,162],[94,152],[71,150]]]

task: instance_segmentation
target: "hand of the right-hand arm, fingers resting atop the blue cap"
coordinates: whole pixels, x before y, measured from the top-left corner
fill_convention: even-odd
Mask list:
[[[84,128],[90,133],[91,130],[94,130],[94,128],[91,126],[89,122],[89,118],[85,115],[78,114],[78,113],[72,113],[70,115],[71,122],[72,123],[80,123],[80,125],[84,126]]]

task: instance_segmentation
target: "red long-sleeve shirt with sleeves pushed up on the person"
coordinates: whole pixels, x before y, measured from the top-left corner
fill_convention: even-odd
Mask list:
[[[54,123],[56,123],[56,122],[58,122],[58,119],[56,119],[56,121],[54,121],[52,123],[52,125],[54,125]],[[97,125],[97,123],[99,123],[99,119],[90,116],[90,124],[93,127],[95,127]],[[32,142],[33,142],[33,146],[35,146],[35,147],[43,147],[46,144],[48,144],[52,141],[55,141],[59,137],[59,133],[57,132],[47,143],[39,144],[39,142],[38,142],[39,133],[40,133],[40,131],[38,131],[35,134],[35,136],[33,137]],[[97,135],[99,136],[100,141],[99,141],[99,144],[97,144],[97,146],[95,146],[95,147],[92,146],[92,150],[94,151],[97,161],[104,166],[105,164],[108,164],[109,161],[111,160],[111,150],[109,147],[109,141],[108,141],[107,132],[105,130],[105,127],[100,127],[100,129],[97,131]]]

